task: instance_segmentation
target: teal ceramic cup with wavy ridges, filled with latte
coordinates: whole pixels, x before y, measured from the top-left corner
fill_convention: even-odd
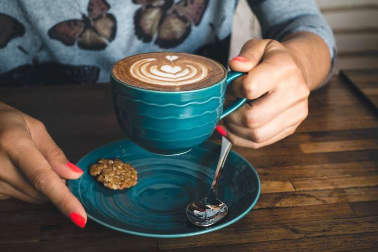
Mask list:
[[[187,85],[185,74],[202,80],[198,82],[202,87]],[[212,135],[219,120],[245,103],[239,98],[223,107],[226,87],[243,74],[227,73],[217,61],[187,53],[145,53],[121,59],[110,73],[118,123],[132,141],[150,152],[188,152]],[[163,86],[154,86],[154,79],[161,79]]]

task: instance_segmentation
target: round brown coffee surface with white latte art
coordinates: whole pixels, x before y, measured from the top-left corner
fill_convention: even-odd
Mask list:
[[[187,91],[211,86],[226,77],[225,68],[207,57],[178,52],[151,52],[116,62],[112,75],[143,89]]]

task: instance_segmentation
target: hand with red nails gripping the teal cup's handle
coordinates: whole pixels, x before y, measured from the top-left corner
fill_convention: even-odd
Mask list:
[[[230,60],[231,70],[247,72],[233,81],[230,91],[250,100],[224,119],[225,134],[234,145],[254,149],[270,145],[294,133],[306,118],[310,87],[327,76],[330,59],[328,56],[329,63],[325,63],[328,70],[314,80],[318,83],[310,83],[309,65],[300,58],[304,54],[296,54],[298,48],[292,46],[275,40],[249,40],[239,56]],[[328,53],[326,45],[324,48]]]

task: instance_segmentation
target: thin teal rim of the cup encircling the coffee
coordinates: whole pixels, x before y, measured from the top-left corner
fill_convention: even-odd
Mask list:
[[[115,81],[117,81],[118,83],[122,84],[122,85],[125,85],[129,88],[132,88],[132,89],[136,89],[138,91],[144,91],[144,92],[152,92],[152,93],[169,93],[169,94],[182,94],[182,93],[194,93],[194,92],[198,92],[198,91],[203,91],[203,90],[206,90],[206,89],[210,89],[212,87],[214,87],[215,85],[218,85],[220,84],[221,82],[223,82],[226,78],[227,78],[227,73],[228,71],[226,70],[226,68],[220,64],[217,60],[214,60],[212,58],[209,58],[209,57],[206,57],[206,56],[202,56],[202,55],[198,55],[198,54],[194,54],[194,53],[188,53],[188,52],[179,52],[179,51],[151,51],[151,52],[142,52],[142,53],[137,53],[137,54],[133,54],[133,55],[130,55],[128,57],[131,57],[131,56],[135,56],[135,55],[143,55],[143,54],[150,54],[150,53],[156,53],[156,52],[167,52],[167,53],[183,53],[183,54],[190,54],[190,55],[196,55],[196,56],[199,56],[199,57],[203,57],[203,58],[207,58],[209,60],[212,60],[214,61],[216,64],[218,64],[219,66],[221,66],[224,70],[224,77],[221,79],[221,81],[217,82],[217,83],[214,83],[213,85],[210,85],[210,86],[207,86],[207,87],[204,87],[204,88],[199,88],[199,89],[193,89],[193,90],[184,90],[184,91],[163,91],[163,90],[152,90],[152,89],[144,89],[144,88],[139,88],[139,87],[135,87],[135,86],[132,86],[124,81],[121,81],[119,80],[118,78],[116,78],[114,75],[113,75],[113,68],[115,65],[117,65],[117,63],[121,60],[123,60],[124,58],[127,58],[127,57],[123,57],[119,60],[117,60],[113,66],[111,67],[110,69],[110,79],[114,79]]]

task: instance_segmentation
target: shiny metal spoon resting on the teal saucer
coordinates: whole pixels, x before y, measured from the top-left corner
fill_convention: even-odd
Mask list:
[[[211,226],[223,219],[228,213],[227,205],[217,199],[217,193],[218,182],[221,177],[220,171],[222,170],[224,163],[226,162],[228,153],[230,153],[231,148],[232,144],[227,140],[227,138],[222,137],[221,153],[209,195],[200,201],[192,202],[186,208],[187,218],[197,226]]]

